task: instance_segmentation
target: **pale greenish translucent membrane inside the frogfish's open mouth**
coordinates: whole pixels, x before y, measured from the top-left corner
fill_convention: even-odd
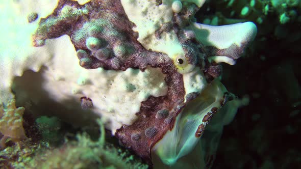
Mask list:
[[[172,165],[194,149],[213,115],[225,104],[226,93],[222,83],[214,80],[185,105],[172,130],[153,147],[163,163]]]

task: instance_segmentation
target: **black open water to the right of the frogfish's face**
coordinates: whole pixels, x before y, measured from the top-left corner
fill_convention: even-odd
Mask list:
[[[239,98],[248,97],[249,104],[224,127],[212,168],[301,168],[300,8],[271,8],[264,14],[258,7],[242,17],[239,9],[248,4],[234,5],[209,1],[198,12],[199,20],[218,16],[252,20],[258,26],[237,64],[223,65],[222,83]],[[291,11],[297,15],[281,24],[280,15]],[[258,17],[264,18],[261,24]]]

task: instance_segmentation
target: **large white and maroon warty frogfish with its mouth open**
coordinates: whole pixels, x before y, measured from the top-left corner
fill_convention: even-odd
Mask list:
[[[0,76],[0,99],[63,106],[60,116],[71,123],[94,121],[85,114],[94,112],[124,147],[149,164],[155,149],[166,164],[174,164],[193,150],[213,115],[233,98],[218,80],[220,63],[234,65],[257,33],[252,22],[197,23],[194,15],[204,3],[60,0],[53,11],[43,12],[20,10],[22,2],[5,3],[21,11],[4,22],[26,30],[12,30],[26,35],[26,45],[12,39],[20,53],[3,43],[9,50],[0,53],[0,70],[10,73]],[[29,17],[17,22],[23,16]],[[24,73],[28,69],[36,73]],[[13,81],[15,76],[21,77]]]

